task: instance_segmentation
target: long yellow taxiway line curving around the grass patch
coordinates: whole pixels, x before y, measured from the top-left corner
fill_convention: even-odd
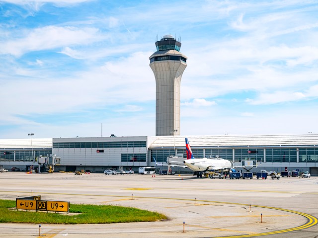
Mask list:
[[[14,192],[14,191],[3,191],[3,192]],[[16,193],[29,193],[29,192],[16,191]],[[69,195],[69,196],[98,196],[98,197],[125,197],[125,198],[128,197],[128,196],[119,196],[119,195],[98,195],[98,194],[95,195],[95,194],[52,193],[52,192],[37,192],[37,193],[38,194]],[[141,196],[135,196],[134,198],[180,200],[180,201],[193,201],[193,202],[195,201],[194,199],[165,198],[165,197],[141,197]],[[208,200],[197,200],[197,202],[232,204],[232,205],[239,205],[239,206],[246,206],[246,207],[250,206],[250,204],[233,203],[233,202],[208,201]],[[287,233],[287,232],[299,231],[299,230],[307,229],[307,228],[313,227],[313,226],[318,224],[318,219],[316,217],[312,216],[312,215],[307,214],[307,213],[297,212],[297,211],[283,209],[283,208],[277,208],[277,207],[267,207],[267,206],[260,206],[260,205],[251,205],[251,206],[252,207],[265,208],[265,209],[273,209],[273,210],[284,211],[284,212],[290,212],[290,213],[297,214],[297,215],[305,217],[307,219],[307,222],[305,224],[301,225],[301,226],[298,226],[298,227],[284,229],[284,230],[278,230],[278,231],[273,231],[273,232],[265,232],[265,233],[258,233],[258,234],[252,234],[252,235],[215,237],[215,238],[245,238],[245,237],[259,237],[259,236],[275,235],[275,234],[281,234],[281,233]]]

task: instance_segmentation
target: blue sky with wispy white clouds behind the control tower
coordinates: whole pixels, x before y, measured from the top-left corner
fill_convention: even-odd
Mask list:
[[[0,0],[0,19],[0,139],[155,135],[166,34],[181,135],[318,133],[317,0]]]

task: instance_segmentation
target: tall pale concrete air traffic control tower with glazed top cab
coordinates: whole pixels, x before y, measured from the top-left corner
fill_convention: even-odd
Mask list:
[[[188,58],[171,35],[163,36],[156,47],[149,57],[156,78],[156,136],[180,135],[180,83]]]

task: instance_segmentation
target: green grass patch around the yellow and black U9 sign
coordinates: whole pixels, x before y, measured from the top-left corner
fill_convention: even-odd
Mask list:
[[[71,213],[81,213],[75,216],[45,212],[8,211],[8,208],[12,207],[15,207],[15,201],[0,200],[0,223],[105,224],[154,222],[167,219],[166,216],[158,212],[111,205],[70,204]]]

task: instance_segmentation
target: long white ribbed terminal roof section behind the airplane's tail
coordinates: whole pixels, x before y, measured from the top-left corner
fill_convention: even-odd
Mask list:
[[[191,147],[239,147],[239,146],[317,146],[318,134],[300,135],[196,135],[157,136],[150,148],[185,147],[185,137]]]

